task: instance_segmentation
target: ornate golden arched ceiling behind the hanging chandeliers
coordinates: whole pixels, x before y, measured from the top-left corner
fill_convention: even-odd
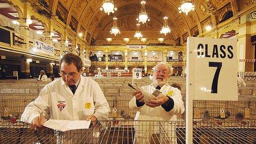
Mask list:
[[[29,2],[37,0],[28,0]],[[103,0],[39,0],[46,2],[52,15],[57,17],[77,33],[83,33],[86,39],[133,38],[136,30],[136,17],[140,10],[139,0],[114,0],[118,10],[107,15],[100,11]],[[219,24],[228,12],[236,15],[239,11],[255,4],[255,0],[192,0],[195,11],[188,15],[179,14],[178,7],[182,0],[147,0],[146,11],[150,22],[141,26],[142,34],[147,39],[166,38],[185,41],[187,36],[198,35],[205,31],[205,26]],[[164,36],[159,33],[164,15],[168,15],[171,33]],[[113,17],[118,18],[121,34],[109,33]]]

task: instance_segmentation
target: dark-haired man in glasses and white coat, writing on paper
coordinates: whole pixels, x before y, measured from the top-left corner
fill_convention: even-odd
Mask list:
[[[82,77],[82,60],[72,53],[60,60],[61,78],[47,84],[39,97],[26,106],[22,121],[29,122],[31,129],[41,128],[46,110],[52,119],[58,120],[106,120],[109,105],[99,84]]]

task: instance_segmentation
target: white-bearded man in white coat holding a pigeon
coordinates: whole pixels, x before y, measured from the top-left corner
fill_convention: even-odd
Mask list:
[[[149,137],[157,137],[159,135],[159,122],[153,121],[175,121],[177,120],[176,115],[183,114],[185,108],[184,103],[182,100],[182,95],[178,88],[174,88],[167,84],[168,79],[170,77],[170,70],[171,66],[168,65],[167,62],[160,62],[158,63],[153,70],[153,83],[148,86],[142,87],[146,92],[153,93],[154,90],[159,89],[160,94],[153,100],[150,100],[148,103],[143,102],[143,94],[140,91],[135,91],[133,93],[134,98],[132,98],[129,102],[129,106],[132,110],[140,111],[140,115],[138,116],[138,120],[150,120],[138,124],[139,126],[136,127],[137,132],[137,142],[138,143],[147,143],[151,140],[145,140],[145,138]],[[163,126],[163,129],[166,129],[168,133],[167,141],[172,141],[175,143],[175,125],[169,124]],[[148,130],[147,130],[148,129]],[[140,131],[145,131],[144,134],[140,133]],[[157,134],[152,134],[157,133]],[[143,139],[144,137],[144,139]],[[158,142],[161,143],[169,143],[164,140],[159,140]],[[154,141],[154,140],[153,140]]]

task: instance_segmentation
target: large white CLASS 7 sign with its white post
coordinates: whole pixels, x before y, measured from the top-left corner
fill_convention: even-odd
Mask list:
[[[237,41],[187,40],[186,143],[193,143],[193,100],[237,100]]]

